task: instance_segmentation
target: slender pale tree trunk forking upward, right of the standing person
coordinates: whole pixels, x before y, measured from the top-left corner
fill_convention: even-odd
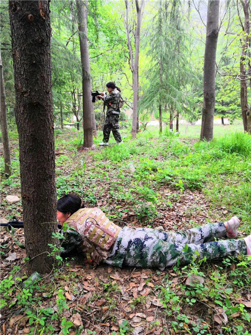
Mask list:
[[[135,32],[135,54],[130,39],[130,28],[129,28],[129,8],[128,0],[124,0],[126,4],[126,30],[127,30],[127,41],[130,54],[130,66],[133,73],[133,91],[134,91],[134,102],[133,102],[133,122],[132,122],[132,138],[135,139],[137,136],[137,117],[138,117],[138,99],[139,99],[139,56],[140,56],[140,32],[141,23],[144,12],[145,0],[141,0],[139,4],[138,0],[135,0],[137,10],[137,23]]]

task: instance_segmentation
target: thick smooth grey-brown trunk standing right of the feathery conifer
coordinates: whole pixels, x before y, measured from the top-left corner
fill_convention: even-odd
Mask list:
[[[208,0],[206,47],[204,56],[204,97],[200,139],[213,138],[213,117],[215,106],[215,61],[219,34],[219,0]]]

